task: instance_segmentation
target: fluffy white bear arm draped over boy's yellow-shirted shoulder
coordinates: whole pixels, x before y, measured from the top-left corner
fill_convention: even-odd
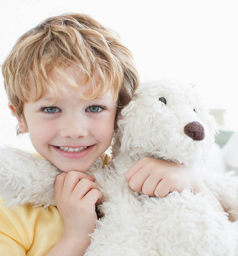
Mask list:
[[[59,173],[46,159],[15,148],[0,148],[0,197],[7,207],[55,205],[54,182]]]

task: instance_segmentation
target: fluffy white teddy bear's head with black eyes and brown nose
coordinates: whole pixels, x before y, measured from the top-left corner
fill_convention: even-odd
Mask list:
[[[117,118],[113,155],[145,156],[195,166],[214,144],[216,122],[192,86],[141,84]]]

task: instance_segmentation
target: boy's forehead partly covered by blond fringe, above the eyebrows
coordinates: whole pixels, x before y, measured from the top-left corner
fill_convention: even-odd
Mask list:
[[[61,71],[63,75],[61,75]],[[49,80],[37,84],[32,80],[29,82],[30,97],[28,101],[58,102],[69,97],[77,97],[84,100],[114,99],[114,92],[110,90],[109,83],[102,84],[97,81],[97,72],[92,79],[82,82],[82,69],[76,65],[66,68],[52,67],[48,73]],[[97,83],[98,82],[98,83]],[[33,86],[35,85],[35,86]],[[116,99],[115,99],[116,100]]]

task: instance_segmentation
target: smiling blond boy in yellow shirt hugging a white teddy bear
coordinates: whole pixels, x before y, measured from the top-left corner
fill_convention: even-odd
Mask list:
[[[29,132],[39,154],[63,172],[55,181],[57,207],[10,210],[1,199],[0,251],[83,255],[102,198],[85,171],[109,147],[117,112],[137,88],[132,54],[115,32],[90,16],[71,13],[49,18],[20,37],[2,73],[18,133]],[[144,158],[126,179],[133,190],[153,196],[191,186],[222,210],[202,181],[180,164]]]

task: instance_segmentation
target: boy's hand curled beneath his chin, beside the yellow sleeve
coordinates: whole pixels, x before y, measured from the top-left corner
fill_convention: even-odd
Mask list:
[[[85,246],[90,244],[88,234],[96,228],[95,203],[102,193],[94,183],[95,178],[79,171],[62,172],[55,181],[55,203],[63,218],[63,238]]]

